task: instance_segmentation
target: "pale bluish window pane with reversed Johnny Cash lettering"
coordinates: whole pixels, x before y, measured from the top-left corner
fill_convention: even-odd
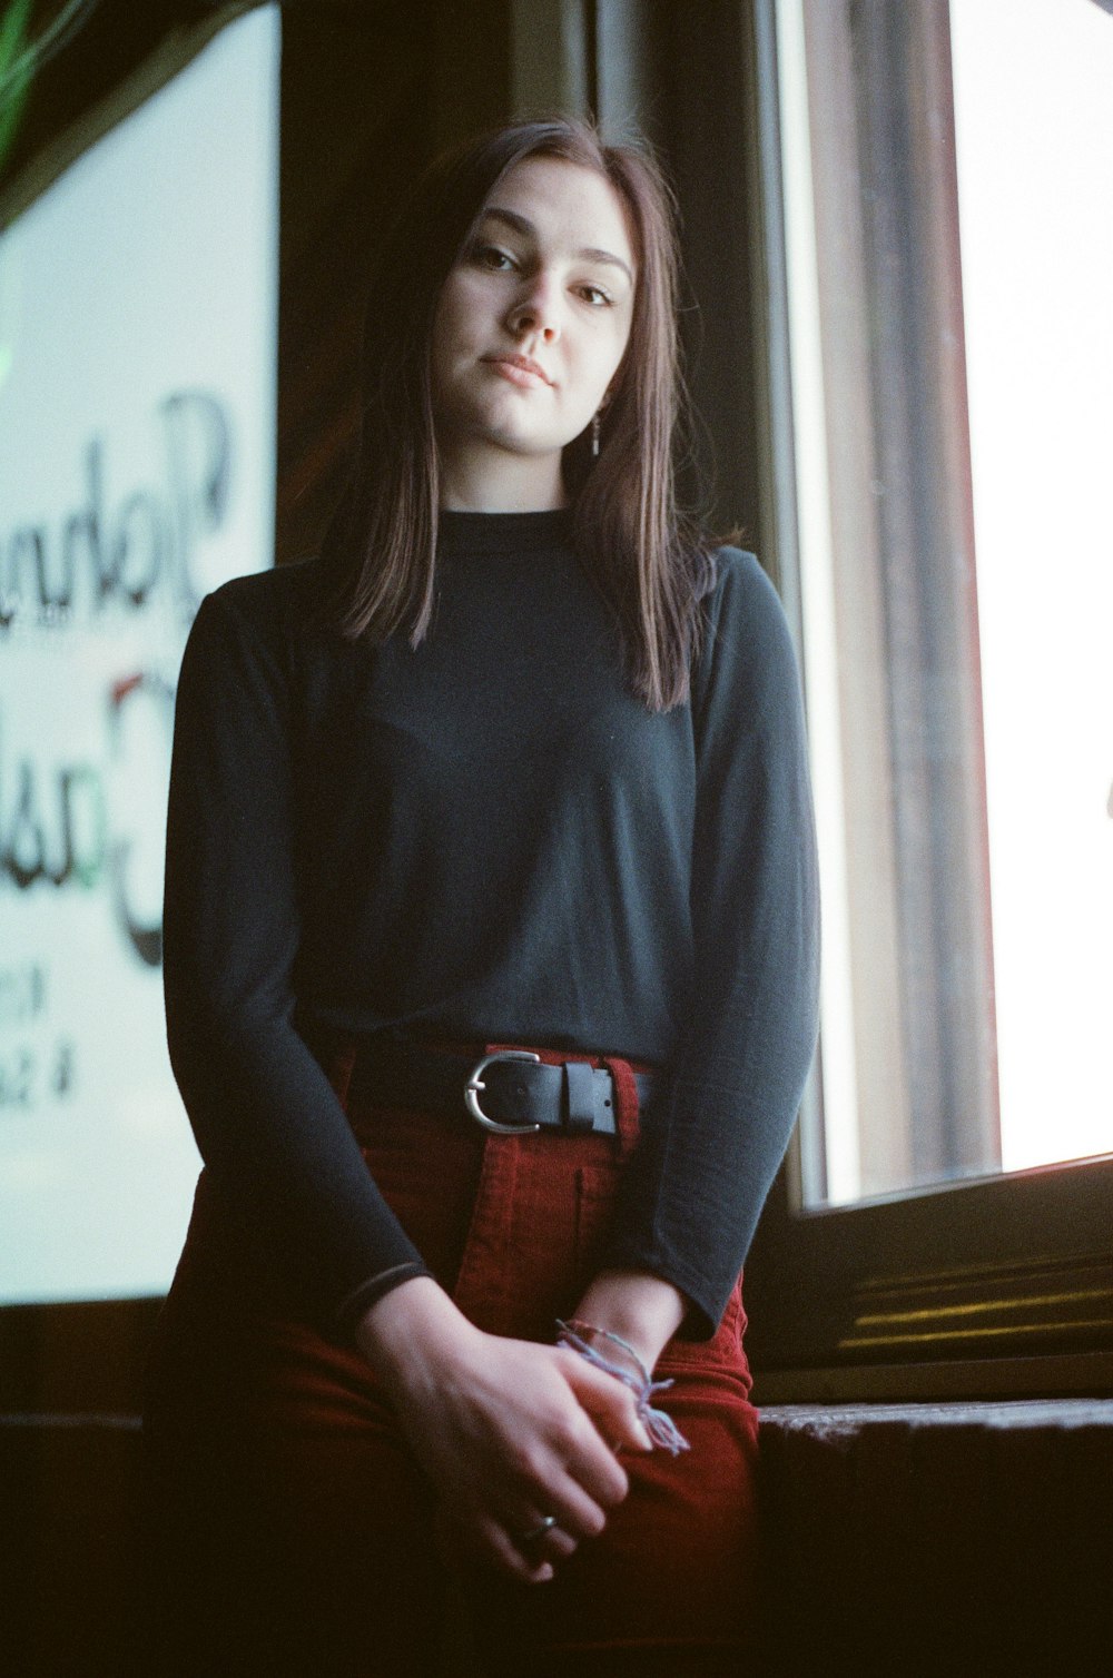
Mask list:
[[[0,1302],[161,1292],[173,695],[272,560],[279,15],[228,25],[0,237]]]

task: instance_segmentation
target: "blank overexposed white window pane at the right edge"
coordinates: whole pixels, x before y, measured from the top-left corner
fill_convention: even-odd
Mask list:
[[[950,27],[1009,1170],[1113,1148],[1113,17]]]

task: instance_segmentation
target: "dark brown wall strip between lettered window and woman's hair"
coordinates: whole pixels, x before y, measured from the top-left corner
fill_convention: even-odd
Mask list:
[[[379,230],[436,151],[510,109],[507,0],[289,5],[282,34],[279,560],[314,550],[344,480]]]

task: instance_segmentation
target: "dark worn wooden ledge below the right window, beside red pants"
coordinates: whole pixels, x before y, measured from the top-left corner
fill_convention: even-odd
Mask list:
[[[766,1678],[1108,1671],[1113,1399],[760,1416]]]

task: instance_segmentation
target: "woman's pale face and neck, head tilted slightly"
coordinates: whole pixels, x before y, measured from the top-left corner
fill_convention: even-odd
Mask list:
[[[635,282],[633,235],[609,181],[557,158],[507,171],[433,322],[447,505],[561,505],[561,450],[604,403]]]

